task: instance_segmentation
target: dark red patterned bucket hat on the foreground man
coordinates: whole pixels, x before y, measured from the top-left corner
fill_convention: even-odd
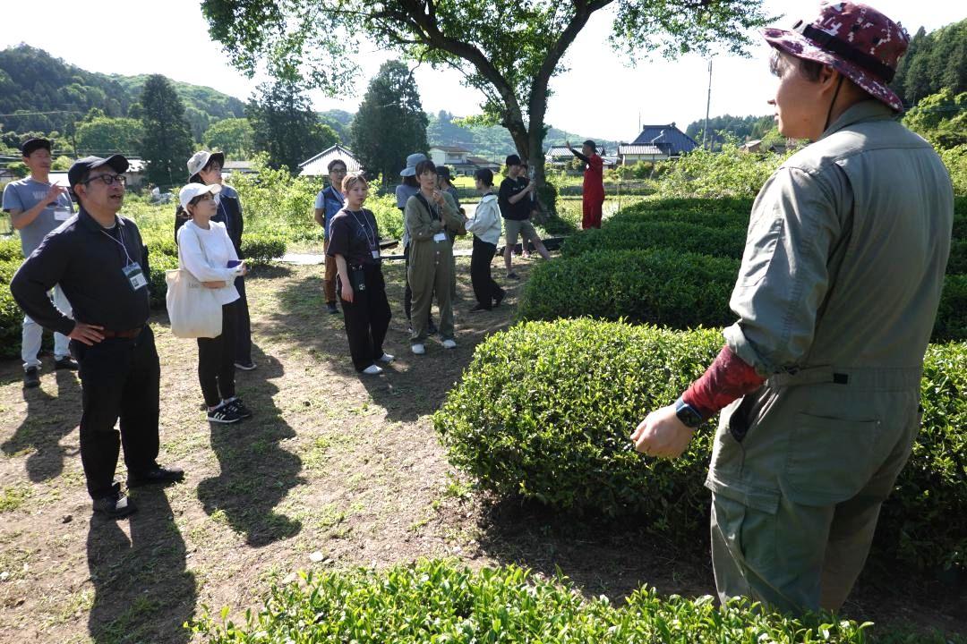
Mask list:
[[[800,20],[792,30],[764,29],[765,39],[796,58],[829,65],[873,98],[903,111],[903,103],[887,84],[894,79],[910,36],[898,22],[858,2],[824,2],[811,23]]]

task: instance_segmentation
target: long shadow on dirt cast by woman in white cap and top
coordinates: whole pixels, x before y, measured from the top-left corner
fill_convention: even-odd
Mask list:
[[[302,523],[275,511],[299,477],[302,460],[279,443],[295,431],[273,401],[282,377],[278,359],[252,346],[258,368],[236,374],[239,393],[254,417],[233,425],[210,423],[220,474],[198,484],[198,499],[212,518],[224,518],[249,546],[268,546],[296,535]]]

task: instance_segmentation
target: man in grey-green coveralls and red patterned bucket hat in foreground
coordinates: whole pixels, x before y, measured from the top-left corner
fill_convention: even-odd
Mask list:
[[[813,143],[755,200],[738,321],[715,363],[631,437],[674,458],[721,410],[706,480],[719,598],[835,610],[920,426],[953,194],[937,154],[898,121],[899,24],[838,2],[764,35],[779,132]]]

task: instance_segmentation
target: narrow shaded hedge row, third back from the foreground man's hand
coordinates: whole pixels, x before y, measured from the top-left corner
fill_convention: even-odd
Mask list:
[[[667,248],[681,253],[742,259],[745,228],[711,228],[679,221],[622,220],[583,231],[561,248],[565,257],[601,250]]]

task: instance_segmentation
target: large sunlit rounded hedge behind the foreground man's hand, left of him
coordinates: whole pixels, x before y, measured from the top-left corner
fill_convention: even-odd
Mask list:
[[[478,345],[434,426],[450,461],[484,490],[575,513],[641,514],[659,529],[697,534],[706,526],[711,433],[697,434],[676,461],[642,458],[629,436],[701,376],[721,345],[715,330],[518,324]]]

